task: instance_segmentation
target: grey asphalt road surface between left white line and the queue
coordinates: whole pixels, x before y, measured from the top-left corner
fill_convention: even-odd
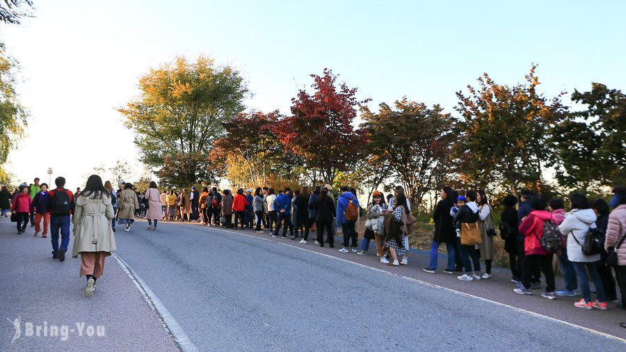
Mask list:
[[[586,330],[626,337],[616,327],[623,311],[517,296],[506,273],[459,282],[422,273],[419,256],[390,273],[372,255],[194,224],[159,223],[152,232],[138,222],[116,240],[118,255],[200,351],[626,349]]]

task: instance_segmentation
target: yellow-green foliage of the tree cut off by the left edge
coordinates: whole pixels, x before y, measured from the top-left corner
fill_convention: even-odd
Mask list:
[[[9,151],[24,136],[27,125],[28,112],[15,91],[16,67],[0,44],[0,164],[6,162]]]

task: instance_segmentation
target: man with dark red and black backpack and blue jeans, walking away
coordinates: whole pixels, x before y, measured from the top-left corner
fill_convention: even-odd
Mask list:
[[[56,184],[56,189],[48,192],[52,258],[63,262],[67,247],[70,246],[70,216],[74,211],[74,194],[69,189],[63,188],[64,177],[56,177],[54,184]],[[58,244],[59,231],[61,231],[61,246]]]

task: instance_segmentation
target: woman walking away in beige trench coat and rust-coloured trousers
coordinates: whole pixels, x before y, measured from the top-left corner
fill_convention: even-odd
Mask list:
[[[98,175],[91,175],[76,199],[74,210],[74,250],[72,257],[81,256],[80,275],[87,277],[85,295],[90,297],[95,282],[104,271],[104,258],[115,250],[111,228],[113,218],[111,195]]]

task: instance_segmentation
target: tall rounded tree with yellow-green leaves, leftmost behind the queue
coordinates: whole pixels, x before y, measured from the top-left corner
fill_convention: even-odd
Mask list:
[[[225,134],[222,123],[243,111],[248,94],[243,77],[230,66],[217,67],[207,56],[194,62],[177,57],[141,77],[139,89],[141,96],[118,111],[135,131],[143,161],[163,167],[168,160],[166,170],[182,168],[172,178],[174,186],[193,184],[214,141]]]

